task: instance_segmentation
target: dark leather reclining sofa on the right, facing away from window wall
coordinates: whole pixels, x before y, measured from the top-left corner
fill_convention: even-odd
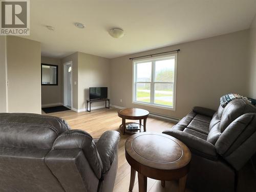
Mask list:
[[[187,186],[195,191],[236,191],[238,172],[256,152],[256,107],[235,99],[217,112],[195,107],[172,129],[191,150]]]

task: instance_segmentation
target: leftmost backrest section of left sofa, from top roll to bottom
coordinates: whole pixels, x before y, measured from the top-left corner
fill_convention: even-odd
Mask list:
[[[0,191],[65,192],[45,157],[68,130],[57,117],[0,113]]]

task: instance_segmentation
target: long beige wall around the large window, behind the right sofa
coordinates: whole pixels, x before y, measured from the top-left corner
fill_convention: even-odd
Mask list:
[[[217,109],[227,93],[248,94],[249,30],[111,59],[111,102],[123,107],[181,118],[193,106]],[[132,103],[130,57],[181,49],[178,54],[176,111]],[[122,99],[122,102],[120,102]]]

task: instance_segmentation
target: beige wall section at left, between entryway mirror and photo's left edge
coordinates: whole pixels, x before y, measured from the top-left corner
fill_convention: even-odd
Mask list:
[[[7,37],[8,112],[41,114],[40,42]]]

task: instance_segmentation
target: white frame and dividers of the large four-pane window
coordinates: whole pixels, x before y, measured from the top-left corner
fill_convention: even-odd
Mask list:
[[[155,91],[155,61],[156,60],[165,60],[168,58],[172,58],[175,57],[175,67],[174,67],[174,87],[173,87],[173,106],[167,106],[167,105],[161,105],[161,104],[156,104],[154,103],[154,93]],[[163,56],[158,56],[158,57],[151,57],[151,58],[146,58],[146,59],[136,59],[133,60],[133,95],[132,95],[132,103],[134,104],[140,104],[140,105],[145,105],[145,106],[151,106],[154,108],[160,108],[160,109],[166,109],[166,110],[172,110],[175,111],[176,110],[176,87],[177,87],[177,60],[178,60],[178,54],[174,53],[174,54],[168,54],[168,55],[163,55]],[[136,65],[137,63],[141,63],[141,62],[147,62],[147,61],[151,61],[152,62],[152,70],[151,70],[151,82],[141,82],[141,83],[151,83],[151,102],[147,103],[147,102],[141,102],[141,101],[136,101],[136,83],[137,83],[137,69],[136,69]],[[160,83],[164,83],[164,82],[160,82]],[[166,82],[166,83],[170,83],[170,82]]]

